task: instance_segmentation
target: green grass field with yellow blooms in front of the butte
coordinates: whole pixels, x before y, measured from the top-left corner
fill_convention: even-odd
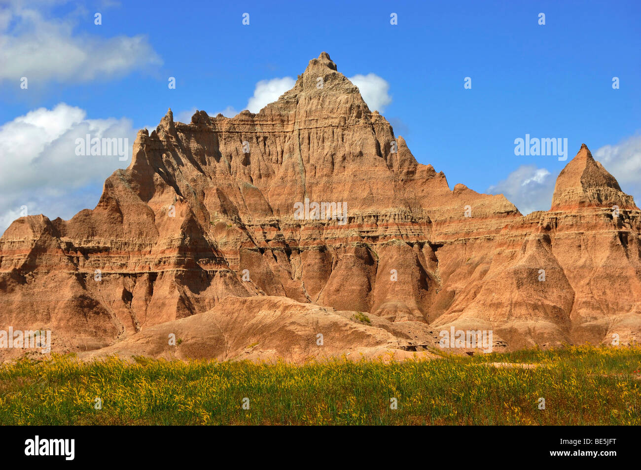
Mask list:
[[[57,356],[0,366],[0,424],[638,425],[640,369],[639,346],[304,365]]]

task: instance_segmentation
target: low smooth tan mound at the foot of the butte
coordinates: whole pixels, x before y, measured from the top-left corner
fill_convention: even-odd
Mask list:
[[[427,324],[391,323],[374,315],[367,315],[367,323],[359,321],[356,314],[285,297],[228,297],[203,314],[151,326],[113,346],[79,356],[281,358],[289,362],[331,357],[434,357],[427,349],[437,347],[438,339]],[[169,344],[171,334],[175,335],[174,345]]]

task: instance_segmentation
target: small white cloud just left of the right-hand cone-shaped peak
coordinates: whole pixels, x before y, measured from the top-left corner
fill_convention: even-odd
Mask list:
[[[508,177],[487,189],[488,194],[503,194],[523,215],[549,210],[556,177],[545,168],[521,165]]]

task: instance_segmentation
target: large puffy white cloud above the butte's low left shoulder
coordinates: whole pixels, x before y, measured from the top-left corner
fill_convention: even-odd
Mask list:
[[[78,156],[76,139],[128,139],[126,160]],[[96,206],[104,180],[131,161],[136,137],[129,119],[87,119],[81,108],[60,103],[38,108],[0,126],[0,233],[20,217],[44,214],[69,219]]]

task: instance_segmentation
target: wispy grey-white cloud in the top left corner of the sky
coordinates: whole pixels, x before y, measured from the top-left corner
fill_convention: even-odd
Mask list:
[[[56,19],[46,12],[12,2],[0,10],[0,81],[33,83],[54,80],[82,82],[122,76],[135,69],[156,67],[160,56],[143,35],[105,38],[75,34],[76,21],[69,15]],[[101,28],[101,26],[96,26]]]

